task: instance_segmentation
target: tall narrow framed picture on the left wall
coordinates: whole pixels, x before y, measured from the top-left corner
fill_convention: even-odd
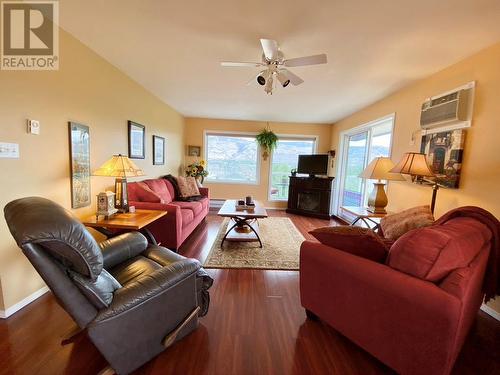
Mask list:
[[[89,127],[68,123],[71,168],[71,207],[90,205],[90,132]]]

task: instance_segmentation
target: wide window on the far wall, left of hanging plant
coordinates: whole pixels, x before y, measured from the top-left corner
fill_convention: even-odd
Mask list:
[[[257,184],[259,152],[255,136],[207,133],[207,181]]]

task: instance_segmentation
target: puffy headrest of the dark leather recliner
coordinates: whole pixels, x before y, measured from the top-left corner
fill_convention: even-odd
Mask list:
[[[4,208],[5,220],[19,247],[43,246],[66,267],[95,280],[102,271],[96,240],[63,207],[40,197],[16,199]]]

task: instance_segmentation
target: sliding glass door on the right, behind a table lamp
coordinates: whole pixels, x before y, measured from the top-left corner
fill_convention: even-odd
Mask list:
[[[358,176],[374,158],[390,157],[393,123],[394,115],[391,115],[341,135],[338,207],[359,207],[367,204],[373,181]]]

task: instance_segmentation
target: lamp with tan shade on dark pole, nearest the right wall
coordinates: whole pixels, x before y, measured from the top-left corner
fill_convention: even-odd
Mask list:
[[[434,172],[429,167],[425,154],[418,152],[407,152],[399,163],[390,170],[394,173],[408,174],[411,176],[411,181],[418,184],[432,185],[432,200],[431,211],[434,213],[436,206],[436,194],[439,186],[436,182],[426,181],[424,177],[436,177]]]

